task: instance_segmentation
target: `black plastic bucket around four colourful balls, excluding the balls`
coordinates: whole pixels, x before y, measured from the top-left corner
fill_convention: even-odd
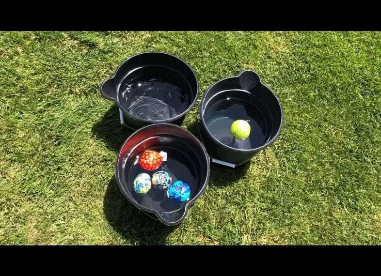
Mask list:
[[[152,177],[155,172],[143,170],[135,164],[136,157],[147,149],[167,153],[167,160],[155,171],[165,170],[171,174],[172,182],[182,180],[190,184],[191,197],[188,201],[168,199],[165,190],[155,187],[146,194],[134,191],[133,181],[139,173],[148,173]],[[193,134],[178,125],[160,123],[145,126],[127,138],[118,153],[115,177],[129,202],[171,226],[183,221],[189,207],[203,194],[209,181],[209,171],[206,149]]]

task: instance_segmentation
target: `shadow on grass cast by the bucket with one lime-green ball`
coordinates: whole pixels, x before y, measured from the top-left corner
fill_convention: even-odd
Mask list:
[[[200,135],[200,120],[197,119],[192,122],[187,129],[194,134],[201,142]],[[247,169],[250,167],[250,161],[237,166],[236,168],[226,167],[220,164],[212,163],[210,161],[210,178],[208,185],[214,185],[218,187],[224,187],[234,184],[237,180],[244,178],[247,172]]]

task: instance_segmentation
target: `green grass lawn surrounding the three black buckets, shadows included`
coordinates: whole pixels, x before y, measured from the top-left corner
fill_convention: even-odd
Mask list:
[[[197,73],[197,135],[215,81],[258,72],[279,139],[242,168],[211,165],[175,228],[119,192],[130,132],[100,83],[133,54]],[[381,244],[381,32],[0,32],[0,244]]]

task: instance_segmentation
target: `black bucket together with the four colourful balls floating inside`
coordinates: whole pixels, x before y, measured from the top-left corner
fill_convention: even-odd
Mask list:
[[[142,166],[153,161],[157,166],[152,169]],[[166,225],[177,225],[204,192],[209,162],[204,145],[191,132],[175,124],[152,124],[134,132],[123,144],[116,181],[135,207]]]

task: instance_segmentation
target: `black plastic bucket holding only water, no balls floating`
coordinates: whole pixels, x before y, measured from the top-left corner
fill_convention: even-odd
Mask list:
[[[100,86],[101,94],[122,110],[136,130],[152,123],[181,124],[198,96],[197,76],[184,61],[162,52],[145,52],[124,61]]]

